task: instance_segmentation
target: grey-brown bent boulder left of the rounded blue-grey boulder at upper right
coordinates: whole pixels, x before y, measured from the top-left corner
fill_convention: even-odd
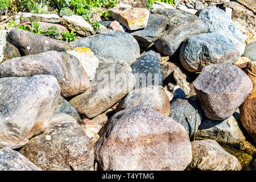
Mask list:
[[[169,28],[155,42],[155,47],[164,55],[172,56],[179,53],[181,43],[192,35],[206,32],[204,22],[197,16],[181,10],[158,10],[154,13],[166,15]]]

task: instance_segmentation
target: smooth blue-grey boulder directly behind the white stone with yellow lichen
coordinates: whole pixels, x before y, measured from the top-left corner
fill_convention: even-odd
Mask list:
[[[129,65],[139,57],[139,44],[126,32],[108,32],[75,40],[73,48],[88,47],[100,63],[117,63],[124,60]]]

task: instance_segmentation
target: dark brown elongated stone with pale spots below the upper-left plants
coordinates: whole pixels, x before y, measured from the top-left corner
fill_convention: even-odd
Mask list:
[[[55,39],[17,28],[9,32],[8,40],[19,49],[22,56],[36,55],[47,51],[67,51],[67,48]]]

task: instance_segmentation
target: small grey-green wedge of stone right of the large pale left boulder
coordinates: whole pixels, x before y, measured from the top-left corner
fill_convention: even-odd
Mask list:
[[[65,113],[76,119],[77,123],[80,123],[81,118],[79,114],[77,113],[76,109],[69,104],[68,101],[66,101],[63,97],[59,97],[57,109],[54,111],[54,114],[56,113]]]

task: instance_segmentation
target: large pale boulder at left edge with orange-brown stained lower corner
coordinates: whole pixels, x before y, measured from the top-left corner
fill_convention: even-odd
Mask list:
[[[0,78],[0,93],[0,148],[15,149],[47,128],[60,87],[49,75],[10,77]]]

